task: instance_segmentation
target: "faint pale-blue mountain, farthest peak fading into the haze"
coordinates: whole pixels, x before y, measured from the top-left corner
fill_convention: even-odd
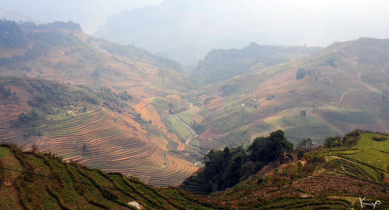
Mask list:
[[[242,24],[247,17],[231,16],[236,8],[230,3],[165,0],[112,15],[94,35],[165,53],[183,65],[196,63],[212,48],[241,48],[249,41],[275,44]]]

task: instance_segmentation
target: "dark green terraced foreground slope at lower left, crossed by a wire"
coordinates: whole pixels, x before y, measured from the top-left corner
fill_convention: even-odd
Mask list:
[[[0,167],[17,170],[0,169],[2,209],[224,209],[175,187],[157,189],[135,176],[66,163],[50,153],[22,152],[11,144],[0,145]]]

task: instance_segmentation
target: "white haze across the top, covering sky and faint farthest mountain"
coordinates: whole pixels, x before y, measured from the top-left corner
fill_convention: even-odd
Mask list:
[[[72,20],[86,33],[134,44],[183,65],[197,62],[212,48],[242,48],[250,42],[327,46],[359,37],[388,38],[388,6],[388,1],[361,0],[14,0],[0,4],[46,22]]]

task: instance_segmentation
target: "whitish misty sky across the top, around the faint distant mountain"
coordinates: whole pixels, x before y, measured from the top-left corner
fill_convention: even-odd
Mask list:
[[[130,11],[135,7],[142,8],[145,5],[158,6],[163,2],[163,0],[0,1],[0,7],[16,9],[33,18],[46,22],[72,20],[80,23],[84,32],[89,34],[95,33],[99,26],[106,22],[109,16],[112,19],[112,17],[120,14],[121,11]],[[165,2],[169,2],[169,4],[166,4],[170,5],[169,8],[166,7],[166,14],[169,14],[169,9],[172,9],[176,13],[177,11],[188,11],[185,8],[177,8],[179,5],[190,5],[182,2],[203,1],[165,0]],[[209,0],[204,2],[204,4],[212,5],[207,8],[217,8],[217,11],[227,13],[207,16],[219,18],[216,20],[195,20],[198,23],[201,23],[201,21],[203,23],[212,21],[222,23],[224,21],[214,28],[202,28],[202,30],[207,30],[208,32],[214,30],[212,31],[214,34],[232,34],[231,31],[235,30],[233,31],[235,34],[239,34],[237,31],[241,31],[261,35],[271,41],[270,43],[286,45],[307,43],[309,46],[328,46],[333,41],[347,41],[358,39],[359,37],[389,38],[389,28],[386,25],[389,21],[389,12],[387,12],[389,1],[387,0]],[[175,6],[176,8],[172,8],[171,5],[177,6]],[[202,7],[199,7],[199,9],[201,10]],[[159,12],[161,11],[163,10],[159,10]],[[186,14],[185,18],[191,19],[192,16],[194,18],[203,18],[205,17],[204,13],[212,12],[199,11],[198,14],[202,14],[199,16],[196,11],[191,11],[191,14]],[[156,16],[155,14],[151,15]],[[172,17],[181,16],[172,14]],[[158,17],[156,18],[158,19]],[[164,18],[166,20],[166,15]],[[176,22],[180,23],[179,21]],[[173,27],[179,26],[173,25]],[[198,32],[197,29],[196,32]],[[164,33],[162,32],[161,34]],[[156,36],[158,37],[158,34]],[[218,39],[215,36],[215,40]],[[109,41],[119,41],[119,39]],[[255,40],[247,40],[247,44],[251,41]],[[131,40],[127,42],[131,43]],[[191,42],[188,41],[188,43]],[[122,44],[127,43],[123,41]],[[231,44],[233,46],[233,43]],[[244,45],[247,44],[244,43]],[[142,47],[142,44],[140,46]],[[157,49],[152,48],[147,50],[151,50],[152,53],[157,51]]]

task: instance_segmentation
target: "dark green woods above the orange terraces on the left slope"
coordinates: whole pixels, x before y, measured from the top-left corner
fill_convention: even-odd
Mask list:
[[[70,85],[70,83],[68,84]],[[34,94],[34,97],[33,99],[28,100],[28,104],[30,106],[39,108],[40,111],[45,114],[41,116],[46,120],[58,121],[74,116],[72,111],[64,112],[64,109],[62,108],[73,108],[72,105],[76,102],[88,101],[97,105],[100,101],[103,101],[103,103],[110,109],[120,113],[122,111],[121,108],[127,105],[124,101],[128,99],[132,100],[132,96],[129,95],[126,91],[120,94],[116,94],[111,92],[111,90],[106,87],[100,87],[100,90],[92,90],[85,85],[75,86],[85,90],[81,90],[79,88],[70,88],[69,86],[66,86],[62,83],[53,83],[51,81],[32,79],[30,86],[28,86],[28,92]],[[0,88],[1,87],[4,86],[0,85]],[[9,92],[8,89],[7,92]],[[87,107],[84,106],[84,111],[86,110]],[[16,123],[16,126],[39,126],[37,123],[43,122],[41,119],[42,118],[37,115],[35,111],[30,111],[28,114],[22,113],[19,116],[19,120],[18,123]]]

